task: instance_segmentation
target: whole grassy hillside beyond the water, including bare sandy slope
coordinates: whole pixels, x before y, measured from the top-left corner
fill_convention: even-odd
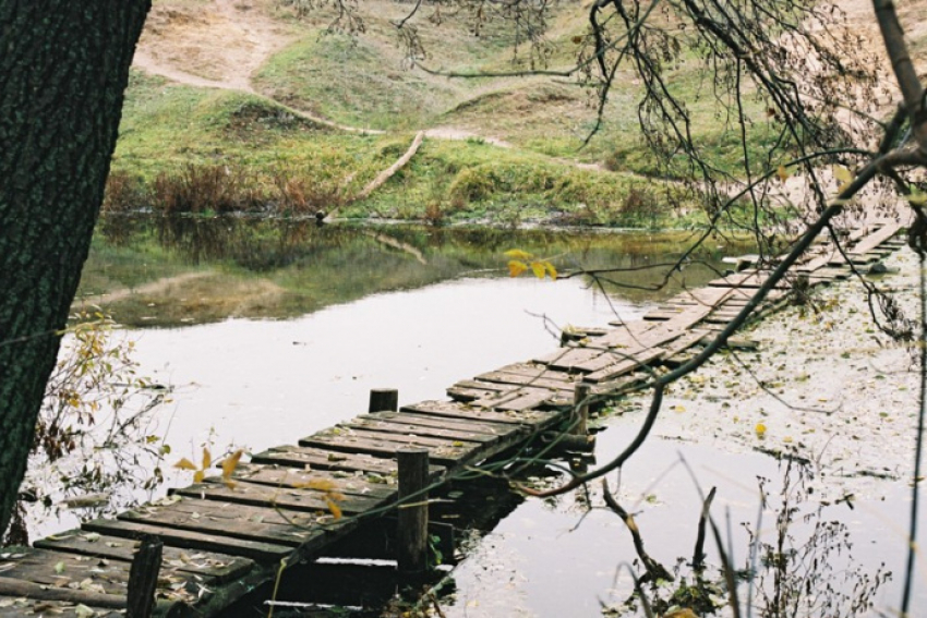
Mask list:
[[[190,209],[221,211],[228,206],[207,194],[232,191],[246,209],[308,203],[304,211],[339,207],[350,217],[432,222],[659,226],[678,223],[681,210],[697,209],[696,201],[667,195],[652,178],[658,167],[638,132],[640,85],[627,70],[615,80],[598,133],[585,144],[597,125],[597,99],[576,80],[432,74],[410,68],[397,40],[392,22],[410,4],[360,2],[360,22],[342,22],[340,29],[330,28],[336,15],[325,7],[300,10],[306,7],[304,0],[155,2],[142,49],[149,63],[169,69],[164,74],[170,78],[132,75],[113,161],[123,198],[158,207],[165,192],[185,192],[202,197]],[[417,54],[426,66],[479,73],[527,69],[537,61],[530,46],[516,45],[501,22],[475,27],[466,11],[440,11],[423,5],[418,15],[423,48]],[[586,28],[586,9],[555,8],[544,47],[550,66],[575,61]],[[237,66],[246,74],[236,74]],[[738,132],[719,114],[699,68],[683,59],[669,82],[686,101],[694,137],[722,169],[736,173],[744,157]],[[751,160],[758,160],[775,128],[759,102],[748,100],[746,111],[759,129],[749,144]],[[402,155],[414,131],[428,128],[473,137],[426,138],[382,189],[353,199]],[[494,146],[495,141],[513,147]],[[679,157],[678,163],[686,161]],[[206,177],[213,179],[209,186]],[[218,186],[222,183],[231,189]]]

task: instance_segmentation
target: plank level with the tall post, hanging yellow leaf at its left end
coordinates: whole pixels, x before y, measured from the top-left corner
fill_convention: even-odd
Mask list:
[[[240,463],[232,473],[232,478],[273,487],[306,486],[313,482],[329,481],[335,484],[340,494],[368,496],[375,499],[389,498],[396,492],[395,488],[386,485],[384,477],[378,474],[340,470],[297,470],[275,464]],[[225,480],[220,476],[207,476],[206,482],[222,484]]]

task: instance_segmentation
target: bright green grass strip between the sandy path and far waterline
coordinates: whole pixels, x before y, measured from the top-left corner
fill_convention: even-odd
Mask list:
[[[236,173],[243,170],[249,186],[272,193],[275,174],[287,170],[350,198],[401,156],[411,138],[411,133],[340,132],[260,96],[168,85],[133,74],[113,171],[151,184],[158,174],[178,174],[189,165],[227,166]],[[635,189],[655,191],[649,184],[479,140],[426,140],[409,166],[341,214],[433,222],[556,218],[627,226],[639,223],[639,213],[623,214],[628,195]],[[647,221],[657,219],[648,215]]]

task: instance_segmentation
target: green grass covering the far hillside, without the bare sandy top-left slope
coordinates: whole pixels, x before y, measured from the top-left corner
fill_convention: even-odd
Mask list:
[[[321,34],[330,19],[324,12],[296,23],[278,8],[277,19],[289,22],[291,31],[302,27],[303,34],[254,82],[280,102],[133,73],[113,171],[139,179],[144,195],[161,174],[177,177],[190,166],[226,167],[246,179],[248,190],[261,195],[257,202],[273,201],[281,177],[296,178],[320,189],[320,195],[346,198],[339,214],[353,218],[621,227],[702,220],[694,199],[672,191],[665,195],[647,178],[678,175],[687,161],[677,157],[666,169],[643,147],[637,126],[640,86],[630,73],[618,76],[599,133],[583,147],[595,126],[594,93],[568,80],[448,80],[407,70],[389,24],[399,9],[406,10],[380,0],[359,4],[366,29],[352,38]],[[526,48],[513,56],[510,34],[498,23],[487,23],[479,37],[471,23],[456,14],[444,15],[440,26],[423,26],[425,62],[464,71],[525,66]],[[586,28],[585,15],[575,7],[559,8],[551,24],[552,64],[568,65],[578,49],[574,38]],[[717,101],[705,95],[697,69],[695,61],[681,64],[671,75],[672,86],[690,108],[695,138],[724,171],[736,174],[743,158],[738,134],[719,122]],[[749,113],[759,116],[758,106],[751,104]],[[332,129],[300,117],[299,109],[388,133]],[[773,137],[774,128],[762,122],[749,144],[755,161]],[[435,125],[499,137],[517,147],[429,138],[370,198],[351,199],[405,153],[413,130]],[[605,162],[617,173],[558,159]]]

